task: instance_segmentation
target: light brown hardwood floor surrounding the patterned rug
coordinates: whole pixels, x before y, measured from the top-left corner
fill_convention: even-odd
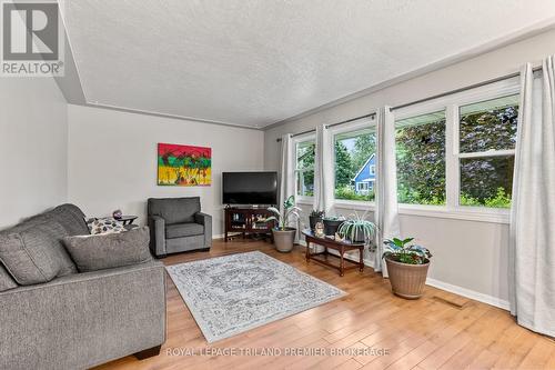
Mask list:
[[[335,270],[306,264],[301,247],[282,254],[262,241],[214,241],[210,252],[171,256],[164,263],[250,250],[265,252],[350,294],[209,346],[168,278],[168,340],[160,356],[142,361],[128,357],[98,369],[555,369],[555,342],[517,326],[504,310],[432,287],[416,301],[396,298],[387,280],[372,269],[352,270],[340,278]],[[206,348],[212,356],[179,353]],[[264,348],[351,351],[342,356],[224,353]],[[372,348],[387,354],[366,353]]]

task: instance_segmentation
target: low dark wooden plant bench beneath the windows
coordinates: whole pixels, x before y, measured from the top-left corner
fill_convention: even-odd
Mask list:
[[[310,230],[303,230],[302,231],[304,239],[306,240],[306,262],[310,262],[311,260],[316,261],[319,263],[322,263],[324,266],[337,269],[340,271],[340,277],[345,274],[345,270],[351,270],[351,269],[359,269],[361,272],[364,271],[364,260],[363,260],[363,254],[364,254],[364,243],[351,243],[349,241],[335,241],[334,239],[330,238],[320,238],[316,237],[312,233]],[[324,247],[324,251],[322,252],[315,252],[311,253],[311,243],[313,244],[319,244]],[[330,253],[329,249],[336,250],[340,256],[335,256]],[[346,260],[344,258],[345,252],[349,252],[351,250],[357,250],[360,254],[360,260],[359,262],[353,262],[351,260]],[[319,256],[323,256],[324,258],[320,258]],[[339,258],[340,264],[334,264],[331,263],[327,258],[329,257],[334,257]],[[349,266],[345,266],[345,262],[350,263]]]

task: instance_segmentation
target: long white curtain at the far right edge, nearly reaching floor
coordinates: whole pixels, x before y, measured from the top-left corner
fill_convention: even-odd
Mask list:
[[[541,77],[521,73],[509,228],[511,313],[521,326],[555,337],[554,57]]]

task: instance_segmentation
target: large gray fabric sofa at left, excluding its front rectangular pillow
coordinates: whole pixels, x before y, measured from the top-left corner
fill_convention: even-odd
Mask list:
[[[72,204],[0,232],[0,242],[8,236],[23,240],[39,271],[62,267],[49,282],[21,281],[6,266],[10,250],[2,249],[0,369],[87,369],[160,351],[165,341],[163,264],[152,260],[79,273],[61,239],[87,233],[83,213]]]

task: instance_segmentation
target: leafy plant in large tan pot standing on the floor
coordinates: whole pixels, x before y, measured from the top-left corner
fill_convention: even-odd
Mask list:
[[[410,244],[414,238],[393,238],[384,241],[387,246],[383,257],[390,274],[394,294],[417,299],[424,293],[427,269],[432,253],[421,246]]]

